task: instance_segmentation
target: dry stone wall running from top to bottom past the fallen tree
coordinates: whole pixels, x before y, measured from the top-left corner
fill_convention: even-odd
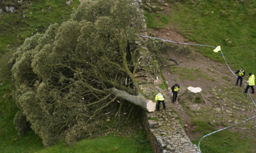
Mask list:
[[[134,2],[138,4],[139,9],[143,14],[141,0],[134,0]],[[164,3],[164,1],[161,1],[161,3]],[[143,24],[143,29],[141,29],[140,35],[147,36],[145,20],[143,20]],[[158,75],[159,79],[154,80],[153,72],[158,65],[147,49],[145,43],[147,40],[148,38],[145,37],[140,37],[135,40],[136,46],[143,46],[140,50],[140,56],[142,59],[138,66],[138,70],[140,70],[137,76],[140,77],[138,78],[138,83],[146,97],[149,97],[152,100],[154,100],[154,96],[156,94],[161,93],[165,98],[166,105],[166,109],[163,109],[163,105],[161,104],[160,111],[151,113],[141,110],[143,124],[145,125],[145,129],[148,133],[150,145],[156,153],[199,152],[197,146],[191,143],[180,124],[179,116],[175,112],[171,101],[170,92],[167,89],[162,89],[164,87],[162,77]],[[152,63],[153,61],[154,64]],[[147,68],[145,69],[145,67]]]

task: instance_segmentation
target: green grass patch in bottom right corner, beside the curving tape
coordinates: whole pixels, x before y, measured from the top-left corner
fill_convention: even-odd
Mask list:
[[[213,128],[209,125],[209,122],[204,121],[193,121],[196,125],[196,129],[192,131],[192,133],[201,132],[201,135],[198,135],[196,140],[192,140],[191,142],[195,145],[198,145],[199,140],[206,134],[217,131],[217,129]],[[250,137],[247,134],[244,134],[245,138],[241,139],[243,135],[242,132],[231,132],[228,129],[222,130],[220,132],[211,134],[200,142],[200,149],[202,152],[254,152],[255,147],[255,139]]]

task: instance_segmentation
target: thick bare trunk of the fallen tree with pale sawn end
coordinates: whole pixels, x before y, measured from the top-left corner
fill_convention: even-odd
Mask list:
[[[108,94],[113,94],[118,98],[127,100],[134,105],[138,105],[148,112],[155,111],[156,103],[154,103],[152,100],[148,100],[144,97],[133,96],[133,95],[128,94],[125,91],[121,91],[116,88],[107,89],[107,92],[108,92]]]

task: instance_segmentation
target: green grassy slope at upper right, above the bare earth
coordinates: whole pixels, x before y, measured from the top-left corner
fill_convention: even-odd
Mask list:
[[[196,4],[191,1],[175,3],[170,6],[169,15],[157,12],[146,13],[148,28],[175,27],[190,41],[209,46],[220,45],[232,69],[238,70],[243,66],[247,74],[256,73],[254,64],[256,28],[255,18],[252,17],[255,16],[256,2],[252,0],[244,3],[213,0],[195,2]],[[211,13],[212,11],[214,13]],[[224,62],[221,53],[214,53],[213,48],[196,47],[196,49],[212,60]]]

